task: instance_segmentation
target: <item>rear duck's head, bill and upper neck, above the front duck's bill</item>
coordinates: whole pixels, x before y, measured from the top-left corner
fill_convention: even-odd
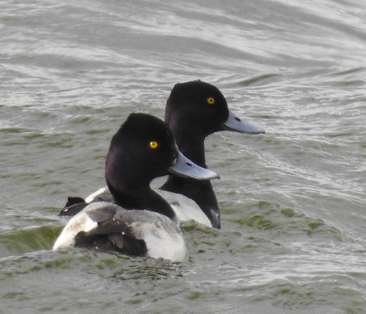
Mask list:
[[[199,80],[173,87],[165,108],[165,122],[180,151],[200,166],[205,166],[206,136],[224,130],[264,133],[262,128],[236,117],[216,86]]]

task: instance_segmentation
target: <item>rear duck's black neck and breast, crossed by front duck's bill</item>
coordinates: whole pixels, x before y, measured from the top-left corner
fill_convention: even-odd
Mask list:
[[[182,128],[178,128],[178,124],[171,124],[169,127],[172,129],[178,148],[183,155],[197,165],[207,168],[205,159],[206,136],[181,132]],[[220,228],[220,210],[210,180],[169,176],[167,182],[160,189],[179,193],[194,200],[210,219],[212,226]]]

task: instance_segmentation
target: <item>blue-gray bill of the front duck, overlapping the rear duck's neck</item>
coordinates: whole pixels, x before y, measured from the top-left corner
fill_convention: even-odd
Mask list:
[[[198,180],[220,179],[220,176],[209,169],[196,165],[193,161],[184,156],[181,152],[175,165],[169,167],[169,172],[180,177],[194,178]]]

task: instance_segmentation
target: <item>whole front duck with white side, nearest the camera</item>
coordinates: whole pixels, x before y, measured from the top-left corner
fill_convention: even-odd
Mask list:
[[[187,246],[179,218],[150,188],[154,178],[168,174],[219,178],[179,151],[165,122],[149,114],[130,114],[112,137],[105,162],[114,202],[93,202],[79,211],[67,222],[53,250],[74,246],[182,261]]]

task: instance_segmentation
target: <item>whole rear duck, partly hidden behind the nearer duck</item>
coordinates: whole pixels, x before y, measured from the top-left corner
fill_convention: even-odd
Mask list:
[[[264,134],[260,126],[237,117],[229,110],[220,90],[201,80],[175,84],[165,107],[164,121],[172,130],[178,148],[197,165],[207,168],[205,138],[220,131]],[[221,228],[220,208],[210,180],[169,175],[157,191],[171,204],[181,222],[196,221]],[[98,189],[86,199],[69,197],[60,215],[74,215],[86,204],[113,201],[108,187]]]

